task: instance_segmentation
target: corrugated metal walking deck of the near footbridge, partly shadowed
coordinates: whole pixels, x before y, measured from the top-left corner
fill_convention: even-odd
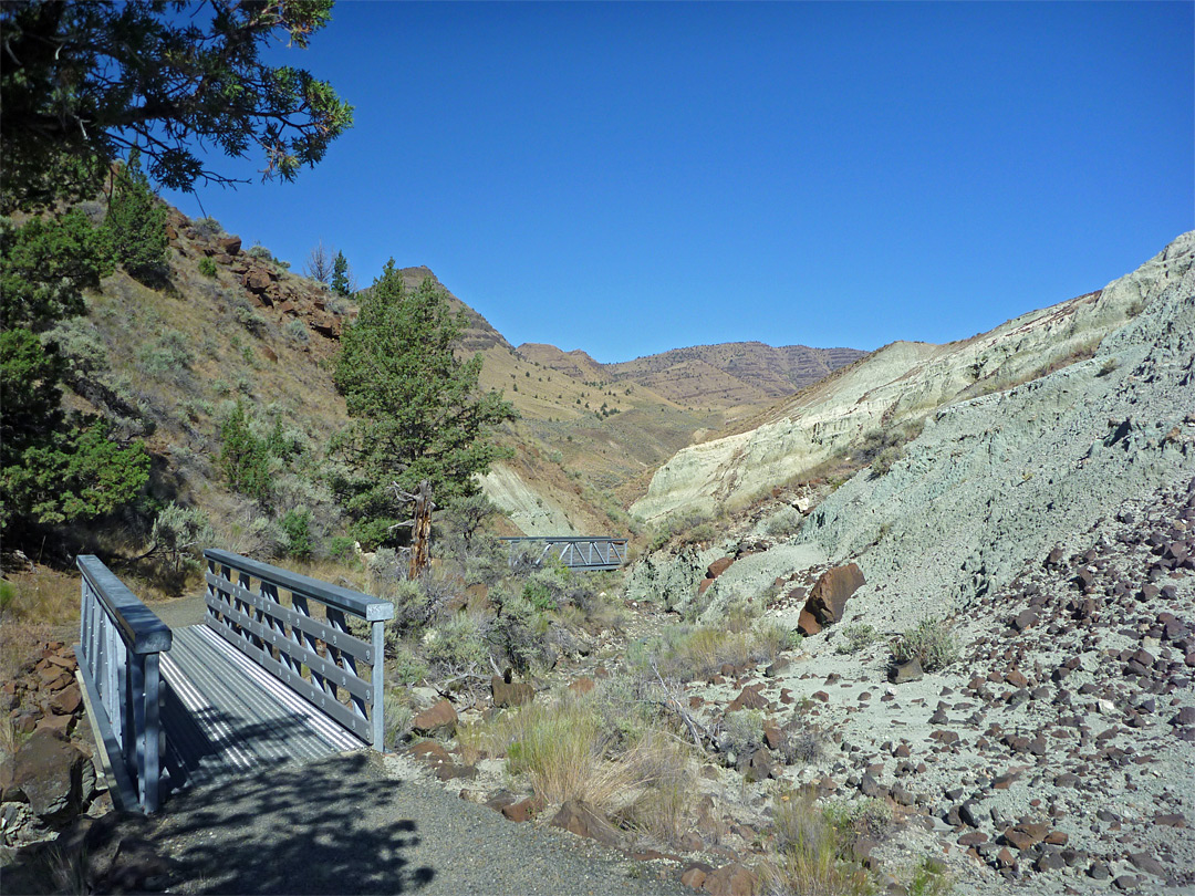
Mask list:
[[[168,790],[368,747],[203,625],[161,655]]]

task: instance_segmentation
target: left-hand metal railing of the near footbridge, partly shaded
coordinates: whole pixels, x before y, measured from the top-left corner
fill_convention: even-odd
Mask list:
[[[99,560],[82,554],[79,675],[117,786],[147,812],[158,809],[165,732],[159,655],[170,628]]]

